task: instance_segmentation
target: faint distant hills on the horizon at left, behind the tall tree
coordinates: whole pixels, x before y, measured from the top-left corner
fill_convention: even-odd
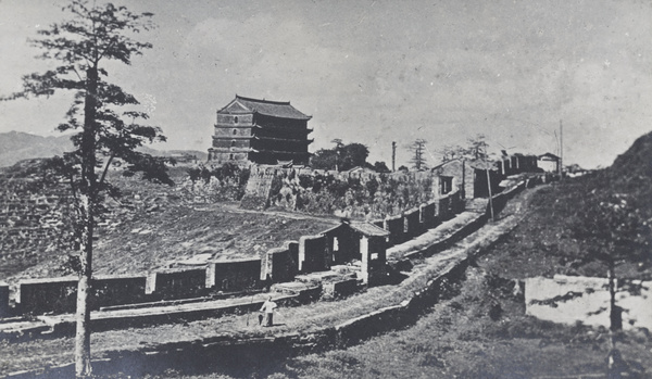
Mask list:
[[[51,157],[73,150],[70,136],[41,137],[22,131],[0,132],[0,167],[8,167],[23,160]],[[140,149],[154,156],[195,155],[202,162],[208,153],[197,150],[156,150],[149,147]]]

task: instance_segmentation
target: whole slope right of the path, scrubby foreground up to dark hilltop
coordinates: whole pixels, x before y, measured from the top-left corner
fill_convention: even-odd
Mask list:
[[[488,251],[449,300],[408,330],[377,337],[346,351],[297,357],[275,369],[275,378],[531,378],[603,372],[606,330],[565,327],[524,315],[525,306],[494,278],[579,274],[604,276],[597,264],[574,267],[567,258],[589,249],[569,231],[587,199],[620,193],[652,216],[652,134],[641,137],[614,165],[590,176],[541,188],[527,217]],[[511,206],[519,206],[512,203]],[[647,236],[652,240],[652,232]],[[650,247],[650,245],[649,245]],[[648,247],[648,248],[649,248]],[[619,268],[622,277],[650,279],[648,262]],[[500,316],[491,309],[500,305]],[[652,336],[624,333],[618,349],[628,363],[652,371]]]

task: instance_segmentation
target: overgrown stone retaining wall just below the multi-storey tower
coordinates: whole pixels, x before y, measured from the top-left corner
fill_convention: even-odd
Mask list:
[[[430,172],[377,174],[251,166],[240,206],[276,206],[350,218],[385,217],[434,197]]]

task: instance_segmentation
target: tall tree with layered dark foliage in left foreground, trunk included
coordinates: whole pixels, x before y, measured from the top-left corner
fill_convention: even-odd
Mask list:
[[[146,142],[164,141],[161,129],[141,125],[143,112],[134,111],[138,101],[120,86],[108,81],[105,62],[131,64],[131,58],[152,46],[135,39],[141,30],[153,27],[151,13],[135,14],[111,3],[92,5],[72,0],[63,8],[66,21],[39,30],[40,38],[30,43],[43,52],[40,59],[55,66],[45,73],[23,77],[23,90],[9,99],[52,96],[60,90],[75,93],[59,130],[78,130],[73,137],[75,150],[57,159],[59,172],[67,178],[75,199],[75,244],[80,256],[77,288],[75,372],[91,375],[89,291],[92,274],[92,248],[97,219],[106,194],[117,195],[116,187],[106,181],[111,164],[127,164],[125,175],[142,173],[145,179],[172,185],[165,162],[137,151]],[[128,105],[130,111],[120,113]]]

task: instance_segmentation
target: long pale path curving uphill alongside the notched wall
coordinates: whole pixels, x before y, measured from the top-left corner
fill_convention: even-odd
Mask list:
[[[399,283],[368,288],[337,301],[301,306],[290,306],[296,295],[269,293],[283,305],[271,328],[259,326],[258,313],[254,312],[268,295],[266,293],[96,312],[92,319],[98,326],[105,323],[122,327],[100,328],[101,331],[93,328],[93,368],[102,371],[104,367],[104,370],[111,371],[111,367],[121,367],[124,372],[124,368],[129,367],[130,375],[138,375],[148,372],[152,362],[176,365],[180,356],[192,361],[198,356],[210,358],[227,353],[247,355],[261,349],[296,354],[343,348],[409,326],[436,304],[442,281],[455,280],[464,273],[469,258],[496,243],[523,216],[521,212],[509,213],[504,212],[502,218],[493,223],[482,224],[486,220],[484,214],[464,212],[388,250],[390,262],[410,260],[410,267],[402,273],[404,278]],[[474,229],[469,229],[468,225],[474,225]],[[0,330],[13,330],[14,336],[18,336],[11,342],[0,341],[0,377],[59,378],[72,375],[74,338],[65,336],[70,336],[70,328],[74,327],[73,317],[39,317],[23,325],[0,325]],[[152,318],[158,318],[155,326],[134,327],[138,325],[134,320],[151,321]],[[30,338],[30,333],[39,336]]]

